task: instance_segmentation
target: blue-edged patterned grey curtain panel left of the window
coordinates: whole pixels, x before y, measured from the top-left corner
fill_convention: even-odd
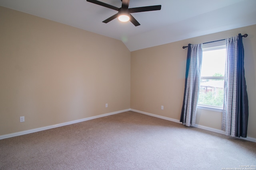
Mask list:
[[[202,56],[202,43],[196,45],[188,44],[184,97],[180,115],[180,122],[186,126],[194,126],[196,124]]]

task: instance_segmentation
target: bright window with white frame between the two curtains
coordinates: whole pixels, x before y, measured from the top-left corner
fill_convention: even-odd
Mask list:
[[[224,101],[226,45],[203,47],[198,108],[221,111]]]

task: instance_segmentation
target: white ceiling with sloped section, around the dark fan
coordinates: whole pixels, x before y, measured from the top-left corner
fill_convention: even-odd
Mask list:
[[[130,0],[129,8],[152,5],[162,9],[133,13],[141,24],[135,27],[117,18],[103,23],[117,11],[86,0],[0,0],[0,6],[119,39],[130,51],[256,24],[256,0]]]

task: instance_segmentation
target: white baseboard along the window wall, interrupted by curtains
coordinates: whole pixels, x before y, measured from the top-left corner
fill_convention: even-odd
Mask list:
[[[144,111],[140,111],[140,110],[135,110],[135,109],[130,109],[131,111],[135,111],[135,112],[138,112],[138,113],[142,113],[142,114],[145,114],[145,115],[150,115],[150,116],[154,116],[154,117],[158,117],[160,119],[165,119],[165,120],[168,120],[168,121],[174,121],[176,123],[182,123],[180,122],[180,120],[178,119],[172,119],[172,118],[169,118],[169,117],[164,117],[164,116],[160,116],[160,115],[155,115],[155,114],[152,114],[152,113],[147,113],[147,112],[144,112]],[[212,131],[212,132],[216,132],[216,133],[220,133],[220,134],[223,134],[225,135],[225,131],[222,131],[222,130],[219,130],[219,129],[214,129],[214,128],[211,128],[211,127],[206,127],[206,126],[202,126],[202,125],[194,125],[193,127],[197,127],[197,128],[200,128],[200,129],[205,129],[207,131]],[[253,137],[241,137],[239,139],[244,139],[246,141],[251,141],[251,142],[255,142],[256,143],[256,138],[253,138]]]

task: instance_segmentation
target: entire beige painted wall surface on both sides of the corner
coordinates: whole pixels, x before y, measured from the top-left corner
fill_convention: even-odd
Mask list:
[[[248,136],[256,138],[256,25],[130,52],[116,39],[0,7],[0,135],[128,108],[180,119],[182,46],[238,33],[249,35]],[[198,109],[196,123],[220,129],[221,116]]]

